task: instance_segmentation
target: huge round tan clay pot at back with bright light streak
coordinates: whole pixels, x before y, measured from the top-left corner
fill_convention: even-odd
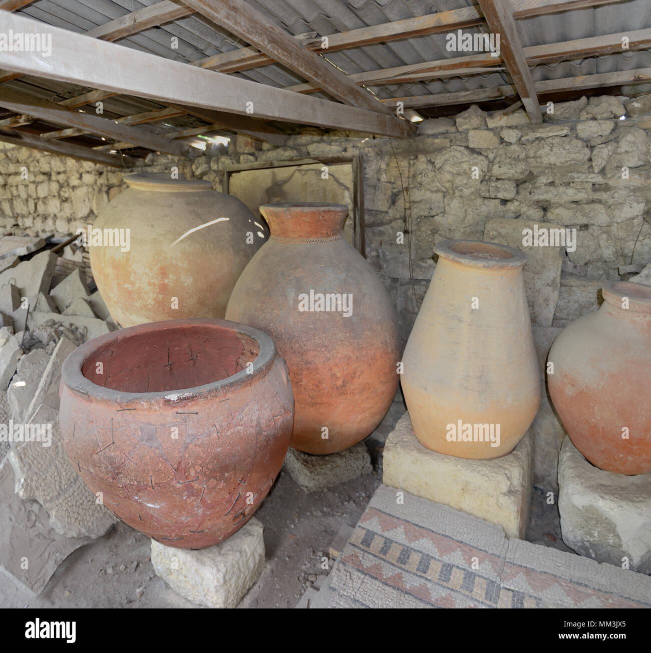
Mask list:
[[[222,319],[235,281],[267,238],[266,225],[207,180],[166,174],[124,179],[129,188],[99,212],[86,238],[93,277],[112,318],[122,327]],[[104,229],[129,229],[129,250],[107,246],[110,241],[93,246],[97,230]]]

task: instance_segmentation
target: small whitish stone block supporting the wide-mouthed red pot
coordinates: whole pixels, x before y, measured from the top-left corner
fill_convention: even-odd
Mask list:
[[[234,608],[265,566],[262,524],[254,517],[214,547],[175,549],[152,539],[154,571],[196,605]]]

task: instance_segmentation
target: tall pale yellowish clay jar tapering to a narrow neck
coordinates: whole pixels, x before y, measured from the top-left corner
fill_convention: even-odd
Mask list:
[[[527,257],[480,240],[446,240],[434,251],[439,261],[403,356],[414,434],[439,453],[497,458],[524,436],[541,400]]]

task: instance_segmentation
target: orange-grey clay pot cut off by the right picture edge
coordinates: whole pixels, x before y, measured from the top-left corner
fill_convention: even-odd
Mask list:
[[[593,465],[645,474],[651,471],[651,287],[606,281],[602,293],[598,311],[554,340],[549,394],[576,449]]]

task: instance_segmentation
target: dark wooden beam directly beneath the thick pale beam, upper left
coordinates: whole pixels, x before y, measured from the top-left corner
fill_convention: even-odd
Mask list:
[[[129,142],[150,150],[159,150],[180,156],[187,152],[186,146],[173,143],[167,138],[162,138],[150,131],[144,131],[139,127],[120,125],[113,120],[75,111],[56,102],[50,102],[26,93],[19,93],[9,88],[0,88],[0,106],[18,114],[35,116],[35,118],[46,122],[85,129],[93,134],[105,136],[105,138],[129,140]]]

